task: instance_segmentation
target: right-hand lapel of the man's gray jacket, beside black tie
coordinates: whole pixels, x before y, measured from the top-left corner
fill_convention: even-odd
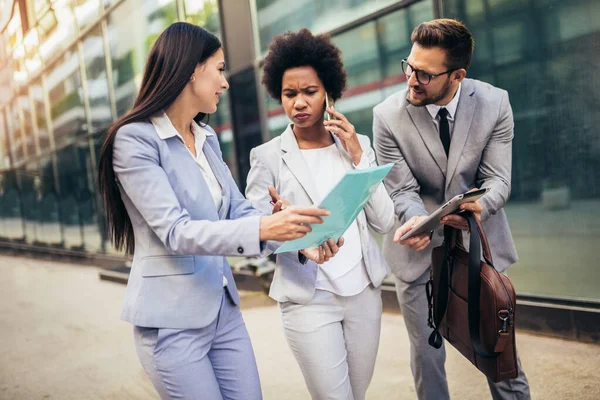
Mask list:
[[[452,139],[450,140],[450,151],[448,153],[448,168],[446,175],[446,189],[452,181],[454,172],[460,156],[462,155],[462,149],[465,147],[465,143],[469,137],[469,130],[471,128],[471,122],[473,121],[473,115],[475,114],[475,108],[477,107],[477,97],[474,96],[475,89],[471,82],[467,79],[463,80],[461,86],[460,100],[458,101],[458,107],[456,108],[456,114],[454,115],[454,128],[452,129]]]

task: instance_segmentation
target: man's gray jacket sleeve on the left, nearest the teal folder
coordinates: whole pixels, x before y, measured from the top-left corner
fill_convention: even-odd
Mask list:
[[[394,163],[383,183],[401,223],[416,215],[429,215],[419,196],[421,187],[406,163],[402,149],[377,108],[373,110],[373,144],[381,165]]]

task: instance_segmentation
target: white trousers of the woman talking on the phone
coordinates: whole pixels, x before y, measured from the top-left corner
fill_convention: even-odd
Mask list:
[[[287,342],[314,400],[363,400],[381,331],[381,289],[343,297],[317,290],[308,304],[280,303]]]

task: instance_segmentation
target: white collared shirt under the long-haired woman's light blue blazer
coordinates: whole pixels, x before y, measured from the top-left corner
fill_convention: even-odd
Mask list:
[[[175,129],[175,126],[173,126],[171,120],[165,112],[162,112],[157,116],[152,117],[150,119],[150,122],[152,123],[152,125],[154,125],[156,133],[162,140],[177,136],[179,139],[181,139],[185,146],[185,141],[183,140],[183,137],[179,134],[177,129]],[[208,163],[206,155],[203,151],[204,142],[206,142],[206,137],[213,136],[213,133],[202,128],[196,123],[196,121],[192,121],[192,125],[190,126],[190,128],[192,134],[194,135],[194,147],[196,149],[196,156],[194,157],[194,153],[192,153],[192,151],[189,148],[188,153],[190,154],[190,156],[192,156],[194,161],[196,161],[196,164],[198,164],[198,166],[200,167],[200,170],[202,171],[202,176],[204,177],[204,180],[208,185],[210,194],[213,198],[213,202],[215,203],[215,207],[218,211],[219,208],[221,208],[221,204],[223,203],[223,188],[217,180],[217,177],[215,176],[212,168],[210,167],[210,164]],[[223,286],[227,286],[227,279],[225,277],[223,277]]]

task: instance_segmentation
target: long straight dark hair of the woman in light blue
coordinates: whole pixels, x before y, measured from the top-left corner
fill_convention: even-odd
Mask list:
[[[167,109],[185,88],[196,66],[220,48],[219,39],[199,26],[185,22],[169,26],[148,54],[133,108],[108,129],[98,160],[98,188],[104,202],[108,234],[117,250],[125,248],[127,253],[133,254],[135,249],[133,226],[112,165],[117,131],[132,122],[148,121],[154,114]],[[205,116],[200,113],[194,120],[200,122]]]

